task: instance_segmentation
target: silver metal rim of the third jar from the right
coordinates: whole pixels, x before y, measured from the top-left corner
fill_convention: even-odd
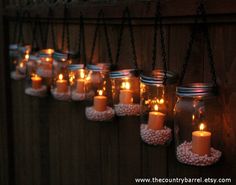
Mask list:
[[[139,70],[137,69],[122,69],[110,72],[110,78],[126,78],[126,77],[138,77]]]

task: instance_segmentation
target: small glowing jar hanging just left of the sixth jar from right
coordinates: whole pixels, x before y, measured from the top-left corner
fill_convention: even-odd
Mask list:
[[[40,61],[37,67],[37,74],[39,76],[47,79],[52,78],[53,53],[54,53],[53,49],[44,49],[39,51],[38,57]]]

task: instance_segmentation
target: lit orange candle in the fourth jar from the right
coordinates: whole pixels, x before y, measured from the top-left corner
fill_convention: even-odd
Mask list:
[[[99,112],[103,112],[107,108],[107,97],[103,96],[103,91],[98,90],[98,96],[94,97],[94,109]]]

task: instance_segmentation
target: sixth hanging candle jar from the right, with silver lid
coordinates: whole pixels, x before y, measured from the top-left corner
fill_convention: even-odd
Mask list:
[[[70,81],[68,65],[71,63],[67,53],[53,53],[53,83],[51,93],[55,99],[69,100],[70,99]]]

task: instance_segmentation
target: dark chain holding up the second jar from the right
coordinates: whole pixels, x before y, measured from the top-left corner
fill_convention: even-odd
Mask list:
[[[163,62],[163,70],[164,70],[164,79],[163,84],[166,84],[167,76],[167,61],[166,61],[166,47],[165,47],[165,39],[164,39],[164,31],[163,31],[163,24],[162,24],[162,15],[161,15],[161,2],[160,0],[156,4],[156,16],[155,16],[155,24],[154,24],[154,41],[153,41],[153,62],[152,62],[152,69],[154,70],[156,67],[156,49],[157,49],[157,24],[159,21],[160,26],[160,43],[162,49],[162,62]]]

